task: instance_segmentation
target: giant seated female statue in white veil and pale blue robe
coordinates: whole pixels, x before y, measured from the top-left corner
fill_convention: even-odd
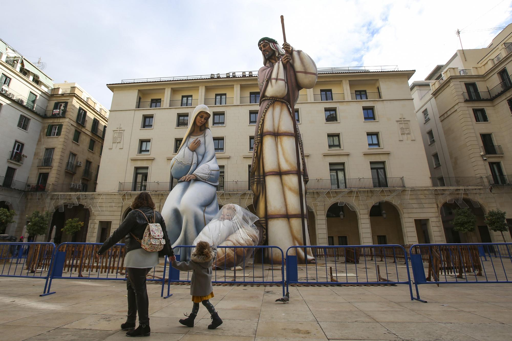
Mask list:
[[[170,162],[170,172],[179,181],[165,200],[162,217],[173,247],[192,245],[219,212],[219,165],[208,125],[210,116],[206,105],[196,106],[178,154]],[[181,260],[186,259],[187,255],[182,254]]]

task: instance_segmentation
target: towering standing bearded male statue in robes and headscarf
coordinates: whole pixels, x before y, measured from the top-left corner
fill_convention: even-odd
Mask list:
[[[302,138],[291,107],[301,89],[314,87],[317,70],[306,53],[287,42],[281,48],[275,39],[264,37],[258,47],[264,67],[258,71],[260,110],[250,184],[254,209],[266,230],[268,245],[286,252],[292,245],[310,244],[305,200],[308,176]],[[305,249],[296,250],[298,262],[304,262]],[[307,261],[313,261],[310,248],[307,253]],[[273,257],[274,262],[281,261],[281,254],[273,252]]]

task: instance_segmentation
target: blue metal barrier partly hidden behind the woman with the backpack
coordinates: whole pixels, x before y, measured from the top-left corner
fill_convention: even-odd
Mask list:
[[[54,279],[125,281],[124,244],[116,244],[96,258],[96,252],[101,245],[102,243],[59,244],[55,250],[48,291]],[[165,258],[162,278],[156,275],[155,267],[153,278],[147,279],[147,281],[162,283],[162,295],[166,267],[167,259]]]

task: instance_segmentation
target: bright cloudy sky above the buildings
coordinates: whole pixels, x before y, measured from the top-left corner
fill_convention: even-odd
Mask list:
[[[258,70],[263,36],[319,68],[397,65],[422,80],[460,49],[486,47],[508,25],[512,0],[56,1],[18,0],[0,37],[47,63],[55,82],[79,83],[110,108],[121,79]],[[23,10],[20,10],[23,9]]]

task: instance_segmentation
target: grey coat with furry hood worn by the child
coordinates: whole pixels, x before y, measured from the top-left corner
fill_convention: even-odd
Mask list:
[[[208,251],[197,254],[196,249],[194,249],[190,256],[190,261],[173,261],[173,268],[181,271],[192,270],[190,294],[193,296],[208,296],[214,291],[214,287],[211,285],[211,264],[217,254],[217,247],[212,246]]]

